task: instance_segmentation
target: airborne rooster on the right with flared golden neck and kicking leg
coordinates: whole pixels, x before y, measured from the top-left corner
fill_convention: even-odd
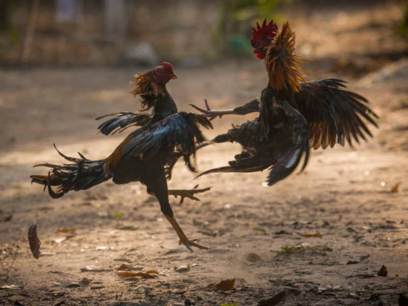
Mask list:
[[[230,166],[211,169],[213,172],[253,172],[272,167],[268,176],[271,186],[284,179],[299,164],[302,169],[308,162],[309,147],[323,149],[336,143],[352,145],[372,136],[362,118],[377,126],[377,115],[359,94],[345,90],[344,81],[326,79],[305,82],[300,67],[303,61],[295,53],[295,34],[289,22],[281,33],[273,21],[257,23],[252,30],[253,53],[265,60],[269,82],[260,99],[254,99],[233,110],[211,110],[192,105],[210,118],[227,114],[245,115],[259,112],[259,117],[248,121],[226,134],[219,135],[202,146],[214,142],[239,142],[243,151],[230,162]],[[366,135],[365,135],[366,134]]]

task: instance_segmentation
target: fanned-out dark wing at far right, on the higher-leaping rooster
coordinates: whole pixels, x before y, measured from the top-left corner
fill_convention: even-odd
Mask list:
[[[314,149],[336,143],[352,146],[352,139],[360,142],[372,137],[363,118],[377,127],[378,116],[369,108],[363,96],[345,90],[345,81],[325,79],[301,84],[295,100],[300,113],[309,123],[310,145]]]

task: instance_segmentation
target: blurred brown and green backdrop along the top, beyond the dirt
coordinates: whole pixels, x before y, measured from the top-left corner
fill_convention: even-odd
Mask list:
[[[387,6],[396,8],[391,14],[390,30],[406,37],[407,3],[396,0],[0,0],[0,64],[154,66],[166,60],[187,66],[201,65],[230,56],[250,57],[250,25],[265,17],[282,23],[284,19],[301,15],[306,17],[308,32],[312,29],[321,32],[333,26],[347,29],[350,10],[375,14],[376,7]],[[331,24],[331,20],[336,22]],[[367,26],[383,28],[386,24],[377,20]],[[321,55],[323,51],[313,44],[315,33],[298,36],[301,54],[309,58]],[[389,37],[372,39],[390,42]],[[352,49],[353,43],[343,47]],[[329,52],[327,46],[324,49]],[[403,48],[393,45],[395,49],[401,52]],[[370,51],[375,52],[375,48]]]

